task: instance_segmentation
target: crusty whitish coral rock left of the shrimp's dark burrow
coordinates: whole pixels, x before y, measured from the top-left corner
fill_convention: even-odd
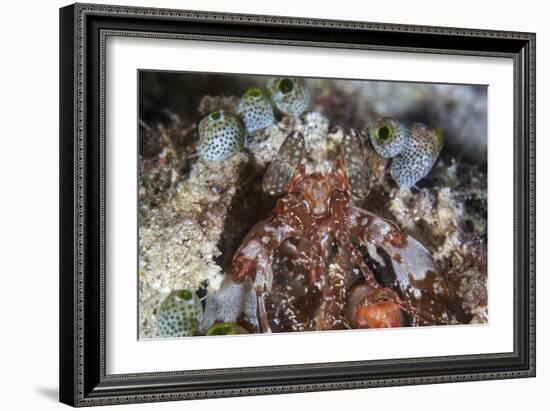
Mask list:
[[[246,162],[242,153],[220,163],[196,162],[189,178],[140,226],[140,271],[149,287],[162,293],[204,282],[219,287],[217,244]]]

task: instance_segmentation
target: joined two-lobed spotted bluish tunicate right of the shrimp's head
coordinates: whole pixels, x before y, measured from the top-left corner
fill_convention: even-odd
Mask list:
[[[440,129],[389,118],[375,123],[370,140],[380,156],[392,158],[391,175],[400,188],[410,188],[426,177],[443,148]]]

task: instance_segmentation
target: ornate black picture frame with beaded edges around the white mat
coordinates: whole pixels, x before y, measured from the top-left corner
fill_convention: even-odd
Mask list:
[[[513,60],[513,352],[107,374],[105,232],[109,228],[105,219],[104,162],[107,36]],[[60,97],[62,402],[91,406],[535,376],[535,34],[76,4],[60,10]]]

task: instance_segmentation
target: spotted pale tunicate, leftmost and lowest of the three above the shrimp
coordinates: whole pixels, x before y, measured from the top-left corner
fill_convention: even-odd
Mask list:
[[[199,123],[199,157],[220,161],[243,148],[246,134],[242,120],[227,111],[215,111]]]

